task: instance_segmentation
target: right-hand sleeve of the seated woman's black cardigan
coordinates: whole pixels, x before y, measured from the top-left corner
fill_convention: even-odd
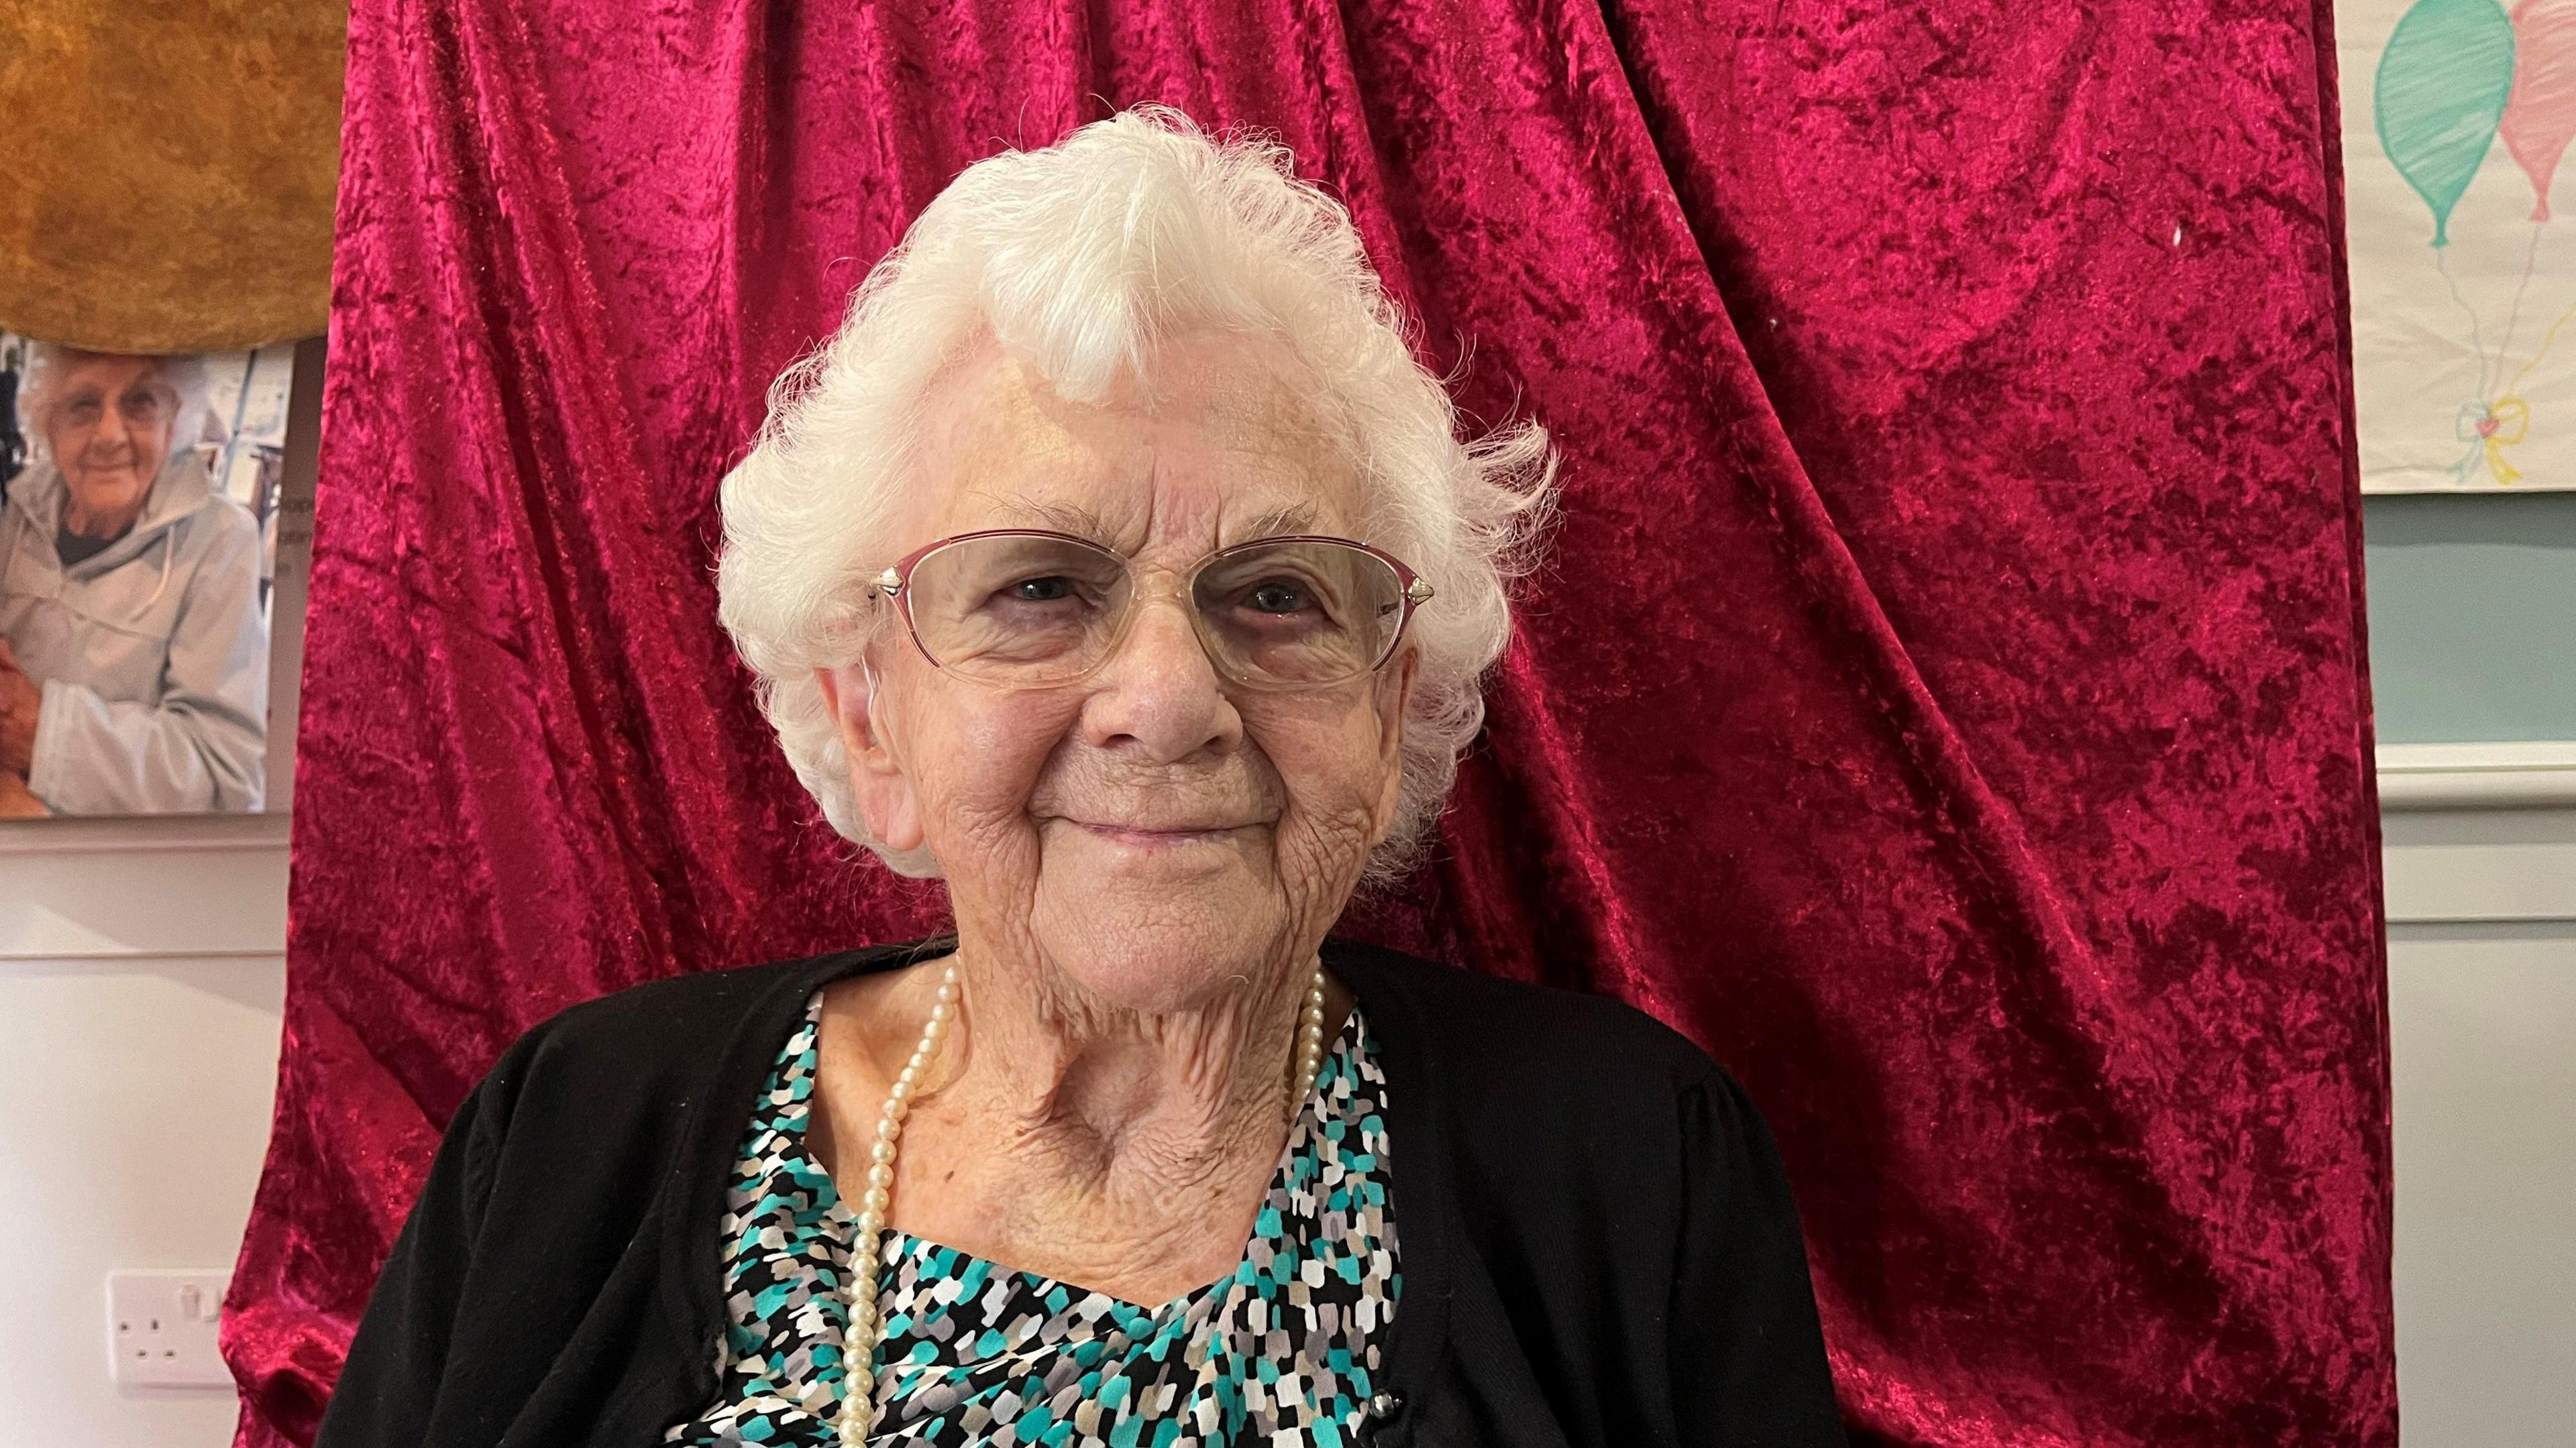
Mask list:
[[[1685,1448],[1844,1448],[1806,1237],[1770,1129],[1723,1069],[1680,1092],[1672,1415]]]

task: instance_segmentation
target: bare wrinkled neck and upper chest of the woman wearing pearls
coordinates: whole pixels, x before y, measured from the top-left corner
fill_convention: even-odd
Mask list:
[[[1247,964],[1226,989],[1167,1013],[1121,1010],[1051,961],[974,935],[956,964],[958,1025],[904,1126],[889,1221],[1141,1304],[1234,1268],[1288,1139],[1314,951]],[[902,1067],[935,974],[904,971],[863,1007],[866,1074]],[[1347,997],[1329,992],[1327,1015],[1342,1013]],[[829,1110],[873,1123],[881,1087],[871,1100],[855,1085],[848,1072],[827,1080]],[[829,1136],[866,1149],[837,1123]]]

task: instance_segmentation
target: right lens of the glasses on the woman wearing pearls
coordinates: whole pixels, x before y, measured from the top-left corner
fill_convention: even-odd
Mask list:
[[[1218,667],[1298,688],[1378,667],[1404,624],[1404,580],[1368,549],[1283,538],[1208,559],[1190,603]]]

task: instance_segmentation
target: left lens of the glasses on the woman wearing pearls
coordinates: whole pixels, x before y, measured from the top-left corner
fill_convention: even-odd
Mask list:
[[[904,608],[940,667],[1048,683],[1108,652],[1128,608],[1128,575],[1118,554],[1074,538],[958,538],[912,564]]]

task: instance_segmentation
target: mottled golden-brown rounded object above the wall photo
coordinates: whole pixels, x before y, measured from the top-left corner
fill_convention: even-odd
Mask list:
[[[0,3],[0,327],[116,353],[322,332],[345,0]]]

